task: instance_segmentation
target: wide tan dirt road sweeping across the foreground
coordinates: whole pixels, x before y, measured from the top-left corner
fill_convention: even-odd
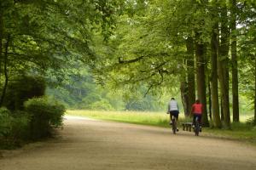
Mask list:
[[[67,117],[56,139],[0,158],[0,170],[255,170],[256,148],[193,133]]]

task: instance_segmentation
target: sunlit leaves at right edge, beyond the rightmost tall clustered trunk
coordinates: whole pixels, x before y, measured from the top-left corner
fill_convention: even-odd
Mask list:
[[[256,3],[254,1],[247,1],[237,3],[238,13],[239,13],[239,24],[241,28],[238,29],[239,36],[237,37],[237,44],[238,45],[238,54],[240,56],[241,62],[241,69],[239,73],[241,74],[240,77],[240,94],[252,101],[252,108],[254,109],[254,122],[256,120],[256,84],[255,84],[255,8]],[[256,123],[256,122],[255,122]]]

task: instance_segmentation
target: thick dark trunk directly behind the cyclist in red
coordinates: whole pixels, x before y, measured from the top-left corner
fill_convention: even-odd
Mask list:
[[[197,35],[197,39],[200,36]],[[197,95],[203,105],[202,123],[204,126],[209,126],[207,116],[207,88],[206,88],[206,75],[205,75],[205,47],[200,42],[195,44],[196,55],[196,82],[197,82]]]

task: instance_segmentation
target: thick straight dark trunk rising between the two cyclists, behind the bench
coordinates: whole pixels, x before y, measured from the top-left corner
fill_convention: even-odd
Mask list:
[[[188,37],[187,42],[187,75],[188,75],[188,111],[191,111],[191,106],[195,103],[195,57],[194,57],[194,42],[192,37]]]

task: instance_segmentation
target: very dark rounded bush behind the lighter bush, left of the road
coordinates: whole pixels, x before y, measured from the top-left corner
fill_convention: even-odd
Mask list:
[[[27,99],[43,96],[45,88],[46,84],[42,77],[15,77],[15,81],[9,83],[3,105],[11,111],[22,110]]]

